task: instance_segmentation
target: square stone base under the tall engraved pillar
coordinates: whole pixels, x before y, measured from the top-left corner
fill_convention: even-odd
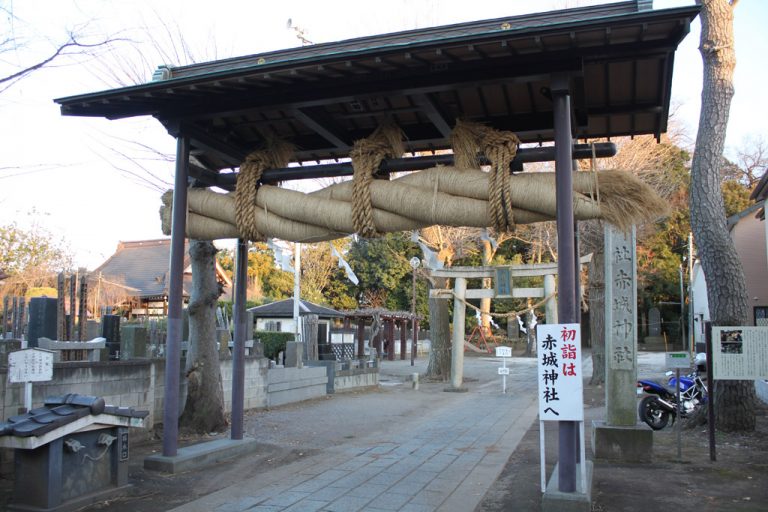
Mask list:
[[[651,462],[653,431],[645,425],[614,427],[593,421],[592,449],[596,460]]]

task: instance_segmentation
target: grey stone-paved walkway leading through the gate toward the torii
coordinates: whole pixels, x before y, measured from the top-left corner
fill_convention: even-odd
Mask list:
[[[448,406],[425,409],[423,417],[391,435],[326,449],[173,510],[474,510],[538,411],[535,393],[501,393],[501,379],[493,375],[498,360],[471,364],[482,371],[479,378],[469,377],[469,392],[452,393]],[[519,390],[524,382],[535,386],[535,365],[522,366],[508,378],[509,389]],[[407,361],[384,362],[382,378],[413,371]]]

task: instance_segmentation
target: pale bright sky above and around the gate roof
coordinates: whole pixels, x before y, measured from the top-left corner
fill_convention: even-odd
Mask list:
[[[68,31],[88,42],[116,40],[94,55],[57,60],[5,90],[0,85],[0,225],[39,226],[69,246],[75,266],[88,269],[119,241],[162,237],[160,195],[173,181],[173,163],[158,155],[173,155],[174,139],[151,118],[64,117],[53,99],[146,82],[161,64],[185,63],[156,51],[171,46],[169,34],[183,34],[201,62],[298,46],[289,19],[320,43],[596,3],[607,2],[219,0],[212,7],[198,0],[0,0],[4,29],[17,42],[0,46],[0,76],[49,54]],[[691,3],[656,0],[654,7]],[[768,141],[768,100],[761,99],[768,83],[768,2],[742,0],[735,13],[736,95],[726,155],[750,140]],[[701,93],[698,38],[696,20],[675,57],[672,87],[674,122],[691,141]]]

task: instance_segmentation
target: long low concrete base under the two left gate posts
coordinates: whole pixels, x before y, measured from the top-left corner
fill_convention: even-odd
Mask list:
[[[207,443],[179,448],[174,457],[150,455],[144,459],[144,469],[163,473],[180,473],[193,468],[213,464],[237,455],[255,451],[258,443],[255,439],[216,439]]]

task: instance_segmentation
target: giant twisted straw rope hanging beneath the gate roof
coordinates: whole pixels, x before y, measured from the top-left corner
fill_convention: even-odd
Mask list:
[[[355,232],[370,237],[433,225],[505,229],[515,222],[556,218],[555,173],[509,175],[509,162],[517,147],[514,135],[460,123],[452,138],[455,167],[438,166],[390,180],[374,179],[382,159],[402,154],[401,140],[402,133],[395,127],[377,130],[355,144],[356,181],[311,193],[260,186],[265,169],[285,167],[291,158],[292,148],[273,141],[243,162],[235,193],[188,192],[187,236],[200,240],[259,240],[268,236],[318,242]],[[496,178],[477,168],[480,149],[491,157]],[[494,179],[496,182],[491,183]],[[506,185],[499,187],[499,179]],[[497,206],[490,206],[491,202]],[[163,232],[168,234],[170,191],[163,195],[163,203]],[[633,224],[656,220],[666,209],[653,189],[629,172],[573,173],[573,212],[578,220],[603,219],[626,230]]]

